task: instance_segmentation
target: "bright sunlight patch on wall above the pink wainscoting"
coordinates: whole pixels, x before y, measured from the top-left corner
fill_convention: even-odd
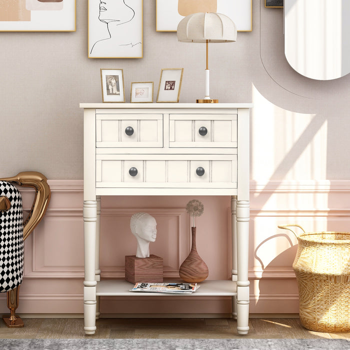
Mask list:
[[[326,179],[327,121],[269,102],[252,85],[251,178]]]

